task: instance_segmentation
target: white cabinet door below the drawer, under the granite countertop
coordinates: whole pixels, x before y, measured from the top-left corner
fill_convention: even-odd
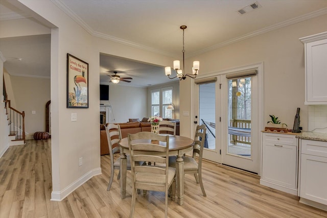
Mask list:
[[[327,157],[301,154],[300,197],[327,205]]]

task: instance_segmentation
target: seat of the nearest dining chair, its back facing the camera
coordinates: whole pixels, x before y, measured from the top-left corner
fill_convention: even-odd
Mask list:
[[[176,174],[176,169],[173,167],[168,167],[168,183],[171,183],[174,180],[175,174]],[[145,173],[145,172],[136,172],[135,179],[136,179],[136,183],[151,183],[151,184],[166,183],[166,175],[158,175],[158,174]]]

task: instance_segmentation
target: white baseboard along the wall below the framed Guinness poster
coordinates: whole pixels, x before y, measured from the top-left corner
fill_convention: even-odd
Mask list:
[[[68,185],[61,191],[52,191],[51,192],[51,201],[62,201],[66,198],[70,193],[72,193],[79,186],[84,184],[90,178],[102,174],[101,167],[92,169],[88,173],[84,174],[81,178],[73,182],[71,185]]]

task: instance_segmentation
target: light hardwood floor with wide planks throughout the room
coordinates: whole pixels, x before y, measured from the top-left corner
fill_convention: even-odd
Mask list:
[[[118,154],[115,155],[115,158]],[[110,191],[109,155],[101,156],[102,175],[95,176],[61,202],[50,201],[51,140],[28,140],[10,147],[0,159],[0,217],[128,217],[115,171]],[[185,175],[184,205],[169,200],[169,217],[327,217],[327,211],[298,202],[298,197],[259,184],[259,177],[204,161],[202,196],[193,175]],[[136,197],[134,217],[164,217],[164,193]]]

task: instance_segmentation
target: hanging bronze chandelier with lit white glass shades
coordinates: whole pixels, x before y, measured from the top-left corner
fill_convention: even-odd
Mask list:
[[[192,67],[192,74],[185,74],[184,72],[184,30],[188,28],[185,25],[180,26],[180,29],[183,30],[183,70],[180,69],[180,62],[178,60],[174,61],[174,69],[176,70],[176,76],[175,77],[170,77],[170,75],[172,75],[172,71],[171,71],[171,67],[167,66],[165,67],[165,74],[166,76],[168,76],[169,79],[174,79],[176,77],[179,78],[179,80],[185,80],[186,76],[191,77],[191,78],[196,78],[196,75],[198,75],[199,73],[199,67],[200,67],[200,62],[199,61],[193,61],[193,67]]]

